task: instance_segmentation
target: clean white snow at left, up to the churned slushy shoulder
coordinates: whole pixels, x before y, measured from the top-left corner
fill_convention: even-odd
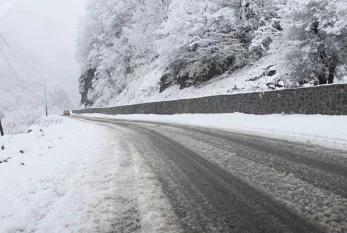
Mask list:
[[[100,154],[93,135],[105,131],[61,118],[41,121],[31,130],[0,138],[0,232],[89,227],[83,219],[91,214],[84,197],[97,185],[86,185],[83,176]]]

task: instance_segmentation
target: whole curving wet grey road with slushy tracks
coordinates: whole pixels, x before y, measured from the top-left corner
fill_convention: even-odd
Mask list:
[[[347,154],[196,127],[74,118],[122,131],[184,232],[347,232]]]

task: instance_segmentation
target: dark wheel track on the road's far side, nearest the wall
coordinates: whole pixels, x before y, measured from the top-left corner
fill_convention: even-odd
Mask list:
[[[347,171],[347,158],[337,157],[338,154],[346,154],[346,152],[340,151],[329,151],[331,153],[331,158],[327,158],[329,155],[324,154],[318,149],[314,150],[312,148],[302,148],[301,145],[293,145],[292,143],[285,142],[274,142],[272,144],[274,148],[288,148],[291,150],[290,154],[283,156],[286,152],[284,149],[279,151],[268,151],[263,145],[259,147],[260,143],[265,144],[267,139],[259,142],[256,137],[249,137],[245,135],[239,135],[239,138],[235,136],[223,135],[222,137],[218,133],[202,133],[199,130],[180,130],[173,127],[167,127],[166,130],[171,131],[174,134],[180,134],[185,137],[192,138],[194,140],[203,142],[214,148],[219,148],[226,150],[230,153],[237,154],[237,156],[243,157],[255,163],[276,168],[276,170],[285,173],[293,173],[296,177],[307,181],[310,184],[314,184],[318,188],[333,192],[334,194],[340,195],[347,198],[347,176],[344,173]],[[250,141],[251,146],[248,146]],[[255,142],[254,142],[255,141]],[[265,143],[264,143],[265,142]],[[258,146],[253,146],[257,144]],[[299,147],[295,148],[295,147]],[[310,149],[310,151],[307,151]],[[326,149],[322,149],[326,153]],[[301,153],[295,153],[296,151],[301,151]],[[309,163],[301,163],[298,159],[300,157],[310,156],[310,160],[319,161],[318,158],[312,158],[315,154],[316,157],[319,155],[324,158],[323,161],[316,162],[316,164],[322,164],[321,166],[310,166]],[[323,155],[322,155],[323,154]],[[334,156],[333,156],[334,154]],[[289,159],[288,159],[289,158]],[[308,160],[308,159],[306,159]],[[329,160],[329,161],[326,161]],[[329,165],[325,166],[328,163]],[[336,164],[336,167],[334,165]],[[331,167],[330,169],[324,169]]]

